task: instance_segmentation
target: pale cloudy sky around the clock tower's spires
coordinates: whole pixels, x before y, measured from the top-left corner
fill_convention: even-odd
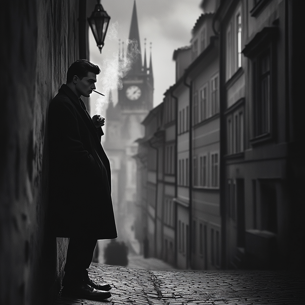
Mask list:
[[[112,81],[111,69],[115,69],[119,39],[126,41],[129,35],[134,0],[102,0],[101,4],[111,17],[106,34],[105,45],[100,54],[93,34],[89,28],[90,61],[102,70],[97,77],[97,93],[91,95],[91,115],[99,112],[106,114],[111,83],[113,102],[117,102],[117,86]],[[144,60],[144,38],[146,38],[146,55],[149,64],[150,42],[152,42],[152,68],[154,75],[154,107],[163,101],[164,92],[175,83],[175,49],[190,44],[191,31],[203,13],[199,8],[201,0],[136,0],[138,25],[141,41],[142,61]],[[125,44],[126,52],[126,44]],[[107,71],[107,72],[105,72]],[[107,92],[106,92],[107,91]],[[98,95],[98,96],[97,96]],[[96,106],[98,105],[98,106]]]

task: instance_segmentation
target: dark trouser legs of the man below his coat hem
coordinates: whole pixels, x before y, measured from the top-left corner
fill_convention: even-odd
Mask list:
[[[88,274],[97,239],[88,236],[70,237],[63,286],[83,282]]]

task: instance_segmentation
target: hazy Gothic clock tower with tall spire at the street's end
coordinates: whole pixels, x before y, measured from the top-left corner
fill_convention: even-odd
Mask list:
[[[153,108],[153,74],[150,48],[149,67],[146,61],[146,39],[144,63],[142,64],[140,35],[136,3],[134,2],[126,56],[122,46],[119,66],[129,62],[130,70],[122,79],[123,88],[118,90],[118,102],[114,106],[111,96],[106,111],[106,141],[103,147],[111,166],[112,199],[119,239],[133,246],[138,252],[135,239],[136,162],[133,156],[138,152],[138,138],[144,137],[141,122]],[[135,42],[136,41],[136,42]],[[135,52],[137,44],[138,52]],[[138,246],[137,246],[138,244]]]

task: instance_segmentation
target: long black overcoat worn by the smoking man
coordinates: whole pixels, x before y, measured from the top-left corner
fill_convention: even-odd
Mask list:
[[[50,227],[57,237],[117,237],[102,135],[63,84],[48,112]]]

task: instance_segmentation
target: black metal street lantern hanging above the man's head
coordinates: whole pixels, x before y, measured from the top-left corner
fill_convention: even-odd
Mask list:
[[[110,16],[104,11],[102,5],[99,3],[100,1],[98,0],[97,2],[98,4],[95,5],[95,9],[90,18],[87,19],[95,38],[96,45],[99,47],[99,52],[102,53]]]

